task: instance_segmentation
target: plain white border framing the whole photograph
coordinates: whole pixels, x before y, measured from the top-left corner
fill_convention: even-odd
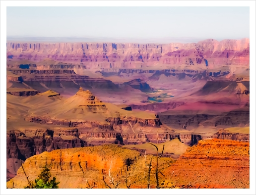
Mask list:
[[[249,6],[250,7],[250,189],[6,189],[6,7],[7,6]],[[44,194],[104,194],[104,195],[255,195],[256,194],[256,1],[255,0],[9,0],[0,1],[0,158],[1,158],[1,175],[0,175],[0,194],[6,195],[44,195]],[[239,28],[239,27],[238,27]]]

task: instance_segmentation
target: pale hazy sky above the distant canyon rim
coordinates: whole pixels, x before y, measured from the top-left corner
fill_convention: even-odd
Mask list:
[[[8,39],[249,38],[249,7],[7,7]]]

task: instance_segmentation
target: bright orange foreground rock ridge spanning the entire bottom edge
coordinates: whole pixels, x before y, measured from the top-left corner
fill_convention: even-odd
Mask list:
[[[163,188],[249,188],[249,156],[248,143],[218,139],[199,141],[177,160],[161,157],[159,170],[165,177],[159,174],[159,180]],[[147,169],[143,164],[146,161],[138,151],[108,145],[43,152],[28,158],[23,166],[33,180],[40,173],[38,168],[47,164],[61,182],[60,188],[86,188],[87,182],[92,186],[94,183],[96,188],[108,188],[102,177],[108,178],[109,170],[114,180],[120,181],[119,188],[127,188],[125,178],[136,168],[129,180],[137,182],[131,187],[145,188],[147,180],[143,178],[143,172]],[[155,165],[156,158],[152,163]],[[152,173],[154,171],[155,168]],[[68,182],[70,178],[71,183]],[[153,176],[150,183],[155,188]],[[7,187],[22,188],[25,185],[27,180],[20,167],[17,176],[7,182]]]

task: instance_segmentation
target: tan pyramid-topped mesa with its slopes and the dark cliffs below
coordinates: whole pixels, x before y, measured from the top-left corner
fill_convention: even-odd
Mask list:
[[[70,98],[53,90],[22,99],[8,98],[7,158],[25,160],[44,151],[102,144],[156,143],[157,139],[163,143],[178,138],[192,146],[201,140],[200,135],[181,135],[163,127],[153,113],[121,109],[82,88]],[[27,110],[19,111],[17,121],[12,111],[18,101]],[[16,127],[11,127],[12,120],[17,121]]]

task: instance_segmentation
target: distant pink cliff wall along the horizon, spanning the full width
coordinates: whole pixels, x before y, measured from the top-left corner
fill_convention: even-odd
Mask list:
[[[249,66],[249,39],[204,40],[197,44],[7,43],[7,58],[40,61],[50,58],[86,68],[165,66]]]

